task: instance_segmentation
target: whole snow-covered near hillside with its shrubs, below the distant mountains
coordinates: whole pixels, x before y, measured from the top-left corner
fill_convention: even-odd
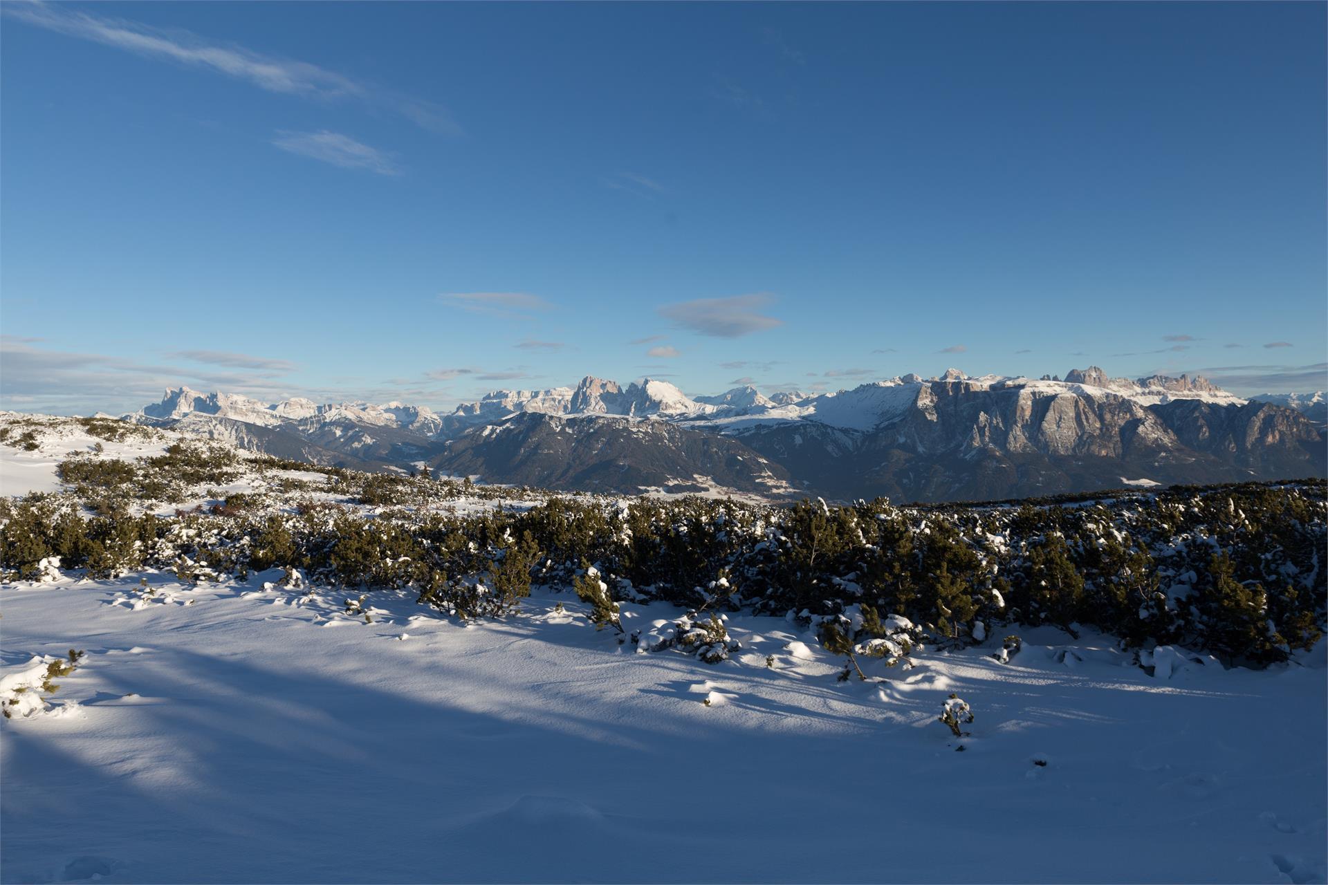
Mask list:
[[[0,414],[0,881],[1325,878],[1321,484],[841,510],[297,467]],[[530,596],[456,608],[521,556]]]

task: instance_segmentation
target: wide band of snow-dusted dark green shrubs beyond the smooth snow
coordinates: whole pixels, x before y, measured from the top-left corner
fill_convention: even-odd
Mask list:
[[[12,439],[19,429],[0,430]],[[138,462],[78,456],[61,466],[72,495],[0,499],[0,572],[35,579],[49,557],[94,576],[177,563],[191,577],[286,567],[311,581],[409,586],[441,612],[497,617],[517,608],[531,581],[567,586],[595,563],[615,576],[608,604],[616,594],[697,612],[791,612],[815,624],[858,605],[854,636],[835,622],[858,659],[867,649],[907,654],[872,642],[903,647],[880,613],[922,625],[943,645],[972,641],[976,621],[995,636],[1001,625],[1084,625],[1127,647],[1174,644],[1254,665],[1312,646],[1325,626],[1328,486],[1317,480],[1131,492],[1074,507],[896,508],[882,499],[781,508],[540,494],[526,512],[454,516],[432,504],[537,494],[264,458],[247,467],[320,474],[325,487],[268,479],[371,502],[374,512],[312,498],[297,499],[295,513],[274,512],[290,499],[268,494],[230,495],[212,512],[174,519],[134,516],[127,503],[194,498],[239,464],[193,443]],[[611,624],[607,604],[592,608],[602,626]],[[699,618],[684,633],[712,629]]]

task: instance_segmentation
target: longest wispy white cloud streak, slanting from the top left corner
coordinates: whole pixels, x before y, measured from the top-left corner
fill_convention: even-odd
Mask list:
[[[430,131],[453,135],[461,133],[461,127],[441,105],[377,89],[307,61],[264,56],[243,46],[211,42],[187,31],[162,31],[139,21],[110,19],[65,5],[7,3],[3,11],[12,19],[46,31],[146,58],[211,70],[266,92],[319,101],[349,98],[392,110]]]

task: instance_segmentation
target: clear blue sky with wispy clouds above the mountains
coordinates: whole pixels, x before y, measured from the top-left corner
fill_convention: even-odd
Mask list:
[[[1324,386],[1323,4],[0,16],[0,395]]]

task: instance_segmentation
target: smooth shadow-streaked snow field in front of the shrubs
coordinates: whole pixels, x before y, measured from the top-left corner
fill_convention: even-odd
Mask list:
[[[1149,675],[1038,629],[838,682],[780,618],[706,666],[571,593],[462,626],[374,592],[367,624],[276,576],[0,588],[4,674],[86,650],[3,724],[3,881],[1324,880],[1323,645]]]

